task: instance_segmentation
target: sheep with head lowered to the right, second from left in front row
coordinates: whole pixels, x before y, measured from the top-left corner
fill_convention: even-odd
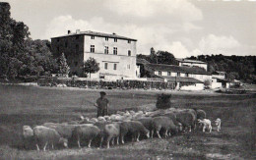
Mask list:
[[[55,144],[62,143],[65,147],[68,147],[68,140],[63,138],[54,129],[46,128],[44,126],[36,126],[33,128],[33,137],[36,143],[37,150],[39,149],[38,144],[43,145],[43,150],[45,151],[47,144],[51,144],[52,149]]]

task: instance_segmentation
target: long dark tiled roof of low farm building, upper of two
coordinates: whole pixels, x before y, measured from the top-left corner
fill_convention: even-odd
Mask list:
[[[146,68],[150,68],[153,71],[165,71],[175,72],[184,74],[199,74],[199,75],[211,75],[206,72],[204,68],[200,67],[185,67],[185,66],[174,66],[174,65],[162,65],[162,64],[146,64]]]

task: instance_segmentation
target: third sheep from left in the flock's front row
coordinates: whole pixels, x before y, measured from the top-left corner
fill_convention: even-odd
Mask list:
[[[83,125],[76,127],[72,132],[72,136],[77,140],[79,148],[81,148],[80,141],[83,138],[89,139],[88,147],[91,147],[92,140],[96,137],[96,135],[99,132],[100,130],[96,126]]]

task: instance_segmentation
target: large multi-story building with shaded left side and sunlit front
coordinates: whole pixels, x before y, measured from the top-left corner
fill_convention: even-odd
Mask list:
[[[54,56],[64,53],[73,75],[82,76],[82,66],[90,57],[99,64],[99,71],[92,78],[136,78],[136,39],[96,31],[80,31],[52,37]]]

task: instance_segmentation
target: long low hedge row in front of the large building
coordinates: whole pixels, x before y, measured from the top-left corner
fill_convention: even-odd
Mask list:
[[[85,87],[85,88],[122,88],[122,89],[174,89],[176,84],[174,82],[164,81],[141,81],[141,80],[72,80],[72,79],[57,79],[48,78],[37,81],[40,86],[58,86],[58,84],[65,84],[71,87]]]

